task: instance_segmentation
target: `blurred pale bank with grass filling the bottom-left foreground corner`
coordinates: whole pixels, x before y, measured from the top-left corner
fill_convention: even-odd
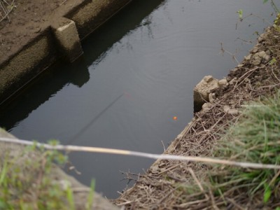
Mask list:
[[[0,138],[17,139],[12,134],[2,129],[0,129]],[[92,189],[84,186],[72,176],[65,174],[61,167],[52,165],[50,171],[48,171],[45,163],[50,157],[48,157],[47,153],[43,155],[41,152],[38,153],[38,151],[35,150],[28,151],[25,146],[19,144],[0,142],[1,189],[6,188],[8,185],[8,192],[0,192],[1,209],[8,209],[9,207],[15,209],[25,209],[28,207],[34,209],[38,207],[39,209],[48,209],[47,207],[52,207],[53,209],[57,207],[59,207],[59,209],[68,209],[72,208],[71,202],[73,202],[75,209],[118,209],[118,207],[111,204],[111,202],[102,197],[102,195],[93,192]],[[38,160],[38,162],[36,162],[36,160]],[[39,165],[36,166],[37,163],[39,163]],[[16,172],[15,168],[18,168]],[[10,179],[17,179],[21,184],[17,186],[13,181],[10,181]],[[45,188],[44,181],[49,181],[50,183],[48,183],[48,186],[51,187]],[[64,195],[61,196],[61,193],[65,192],[67,186],[69,190],[71,190],[73,196],[70,199],[66,199]],[[13,192],[13,190],[15,191]],[[52,197],[51,191],[56,191],[56,196],[57,198],[59,197],[58,202],[55,201],[56,199],[54,196],[52,200],[47,199],[49,204],[43,204],[43,200],[45,200],[46,197]],[[36,192],[36,195],[33,195],[34,192]],[[18,193],[20,195],[19,197]],[[20,204],[20,201],[15,201],[15,197],[21,200],[22,204]],[[5,200],[2,200],[4,198]],[[88,202],[89,200],[92,200],[92,203]],[[50,203],[55,204],[55,206],[51,206]]]

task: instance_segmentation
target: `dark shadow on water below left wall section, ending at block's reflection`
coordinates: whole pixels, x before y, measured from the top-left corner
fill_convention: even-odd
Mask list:
[[[27,118],[29,113],[44,104],[65,85],[72,83],[82,87],[90,79],[87,66],[79,64],[79,71],[75,69],[76,63],[53,65],[48,71],[42,73],[34,82],[25,87],[10,102],[7,102],[0,109],[0,127],[10,130],[18,123]],[[5,124],[3,125],[3,120]]]

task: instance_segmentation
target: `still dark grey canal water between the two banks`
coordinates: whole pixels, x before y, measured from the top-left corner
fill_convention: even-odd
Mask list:
[[[237,10],[272,22],[262,0],[134,0],[83,42],[74,64],[57,64],[1,113],[1,127],[21,139],[162,153],[193,116],[193,87],[205,76],[223,78],[241,61],[255,31],[255,16],[238,22]],[[177,116],[177,120],[173,117]],[[117,197],[123,172],[153,162],[117,155],[71,153],[73,174],[106,197]]]

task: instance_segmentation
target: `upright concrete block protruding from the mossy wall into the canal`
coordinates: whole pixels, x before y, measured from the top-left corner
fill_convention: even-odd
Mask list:
[[[73,20],[59,18],[51,25],[52,31],[57,39],[59,51],[68,62],[73,62],[83,54],[80,38]]]

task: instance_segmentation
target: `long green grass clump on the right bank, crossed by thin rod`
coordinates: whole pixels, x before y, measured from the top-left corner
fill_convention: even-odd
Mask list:
[[[248,104],[239,122],[214,147],[214,155],[239,162],[279,165],[280,91],[271,98]],[[214,167],[209,174],[215,202],[249,209],[280,209],[279,170]]]

